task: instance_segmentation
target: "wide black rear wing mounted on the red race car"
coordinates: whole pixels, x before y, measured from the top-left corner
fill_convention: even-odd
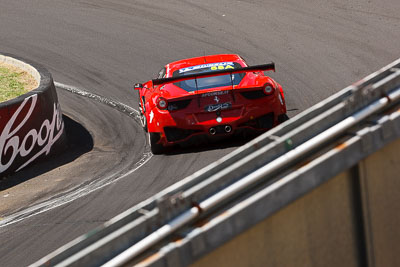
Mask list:
[[[206,78],[206,77],[212,77],[212,76],[220,76],[220,75],[225,75],[225,74],[243,73],[243,72],[251,72],[251,71],[268,71],[268,70],[275,71],[275,63],[271,62],[268,64],[255,65],[255,66],[249,66],[249,67],[238,68],[238,69],[214,70],[214,71],[209,71],[209,72],[204,72],[204,73],[195,73],[195,74],[183,75],[183,76],[178,76],[178,77],[153,79],[152,82],[153,82],[153,85],[160,85],[160,84],[165,84],[165,83],[180,82],[180,81],[185,81],[185,80]]]

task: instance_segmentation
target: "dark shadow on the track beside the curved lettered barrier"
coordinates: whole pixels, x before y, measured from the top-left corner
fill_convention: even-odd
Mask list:
[[[72,162],[93,149],[93,138],[81,124],[66,115],[63,115],[63,120],[67,135],[67,148],[65,152],[54,155],[49,159],[41,159],[17,173],[1,177],[0,191]]]

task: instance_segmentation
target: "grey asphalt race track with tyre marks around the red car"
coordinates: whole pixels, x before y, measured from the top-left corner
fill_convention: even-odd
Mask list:
[[[399,11],[398,0],[0,0],[0,51],[135,109],[133,83],[170,61],[217,53],[238,53],[250,64],[272,60],[271,76],[294,116],[400,57]],[[49,179],[61,177],[63,188],[105,177],[110,183],[0,227],[1,266],[33,263],[238,146],[151,157],[132,117],[63,89],[58,94],[93,148],[51,170]]]

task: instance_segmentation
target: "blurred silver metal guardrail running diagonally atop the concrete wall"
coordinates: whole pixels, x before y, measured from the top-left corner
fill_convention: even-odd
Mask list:
[[[400,59],[44,257],[32,266],[116,266],[175,230],[277,179],[400,99]]]

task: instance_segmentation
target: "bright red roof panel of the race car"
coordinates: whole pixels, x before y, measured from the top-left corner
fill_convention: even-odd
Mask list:
[[[215,62],[241,62],[244,63],[243,59],[239,55],[235,54],[219,54],[219,55],[209,55],[202,57],[193,57],[178,60],[175,62],[171,62],[167,64],[165,67],[167,69],[167,73],[172,74],[174,71],[190,66],[196,66],[207,63],[215,63]]]

